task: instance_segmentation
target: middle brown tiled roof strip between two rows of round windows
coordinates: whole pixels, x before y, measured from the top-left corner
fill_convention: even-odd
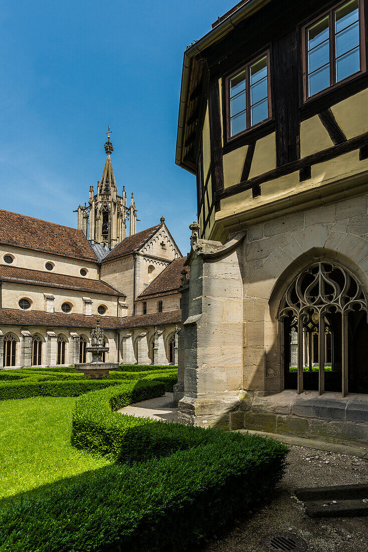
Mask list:
[[[102,280],[90,280],[88,278],[79,278],[78,276],[66,276],[64,274],[54,274],[53,272],[43,272],[42,270],[12,267],[7,264],[0,265],[0,281],[1,280],[40,284],[49,286],[50,288],[90,291],[91,293],[103,293],[105,295],[116,295],[119,297],[124,295],[109,284],[102,282]]]

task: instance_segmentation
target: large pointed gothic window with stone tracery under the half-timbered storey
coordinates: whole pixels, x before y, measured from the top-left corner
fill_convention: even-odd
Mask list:
[[[342,267],[318,262],[281,301],[285,389],[368,392],[367,301]]]

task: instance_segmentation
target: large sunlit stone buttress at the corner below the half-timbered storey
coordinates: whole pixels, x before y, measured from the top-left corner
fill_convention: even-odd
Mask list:
[[[189,316],[183,323],[184,397],[178,405],[179,420],[202,427],[242,427],[245,232],[222,245],[199,240],[196,226],[187,261]]]

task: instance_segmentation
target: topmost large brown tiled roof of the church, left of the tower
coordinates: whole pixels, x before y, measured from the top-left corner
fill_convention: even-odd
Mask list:
[[[82,230],[0,209],[0,243],[97,262]]]

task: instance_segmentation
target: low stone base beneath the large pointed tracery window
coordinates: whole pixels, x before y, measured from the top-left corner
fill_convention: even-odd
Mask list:
[[[244,392],[243,426],[339,444],[368,445],[368,395],[286,390],[270,396]],[[239,417],[239,413],[232,413]],[[240,421],[240,420],[239,420]],[[238,421],[238,423],[239,423]],[[230,424],[231,429],[233,424]]]

